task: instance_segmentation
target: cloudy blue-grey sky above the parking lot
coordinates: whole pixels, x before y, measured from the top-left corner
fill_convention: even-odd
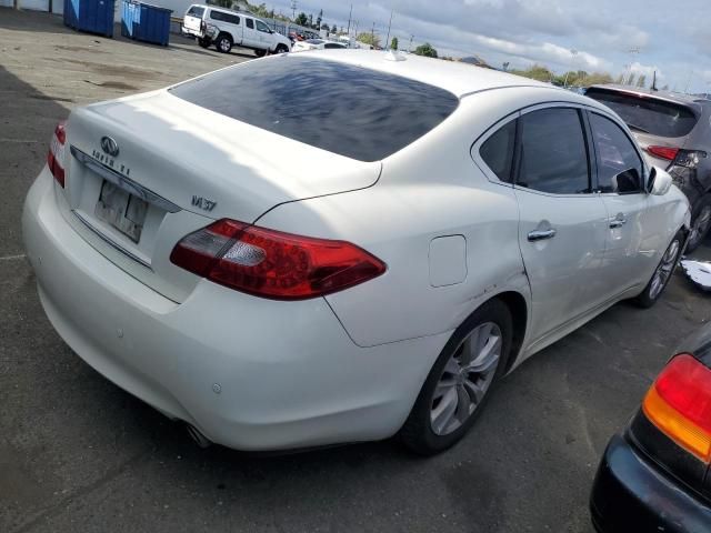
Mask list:
[[[709,0],[296,0],[297,13],[320,9],[323,21],[391,38],[401,49],[430,42],[440,56],[479,56],[510,68],[544,64],[605,71],[618,78],[631,69],[658,88],[711,92]],[[266,0],[291,16],[291,0]],[[639,52],[630,52],[630,50]],[[577,53],[573,53],[575,51]],[[631,66],[631,67],[630,67]]]

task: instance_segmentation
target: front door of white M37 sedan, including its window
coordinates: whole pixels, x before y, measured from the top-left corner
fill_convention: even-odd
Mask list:
[[[608,211],[603,279],[615,294],[645,283],[644,252],[649,195],[644,191],[642,155],[610,117],[590,111],[597,167],[597,190]]]

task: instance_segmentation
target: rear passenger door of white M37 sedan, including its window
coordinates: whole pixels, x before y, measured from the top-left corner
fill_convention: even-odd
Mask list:
[[[588,147],[580,109],[538,107],[519,118],[514,191],[533,344],[607,298],[600,269],[608,213],[592,191]]]

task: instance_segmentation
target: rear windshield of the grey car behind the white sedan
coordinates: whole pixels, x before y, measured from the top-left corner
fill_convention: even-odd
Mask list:
[[[684,137],[697,125],[697,115],[680,103],[605,89],[590,89],[585,94],[612,109],[631,130],[642,133]]]

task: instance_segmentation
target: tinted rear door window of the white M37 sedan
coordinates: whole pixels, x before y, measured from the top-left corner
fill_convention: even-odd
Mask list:
[[[552,108],[521,117],[518,183],[557,194],[590,192],[588,154],[580,114]]]

